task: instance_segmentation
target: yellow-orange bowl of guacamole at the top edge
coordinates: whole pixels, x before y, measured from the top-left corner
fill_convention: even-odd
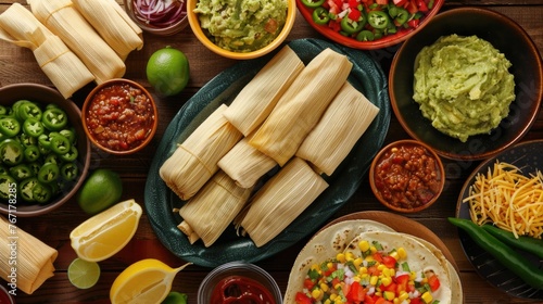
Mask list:
[[[188,0],[187,7],[197,38],[232,59],[273,51],[285,41],[295,18],[294,0]]]

